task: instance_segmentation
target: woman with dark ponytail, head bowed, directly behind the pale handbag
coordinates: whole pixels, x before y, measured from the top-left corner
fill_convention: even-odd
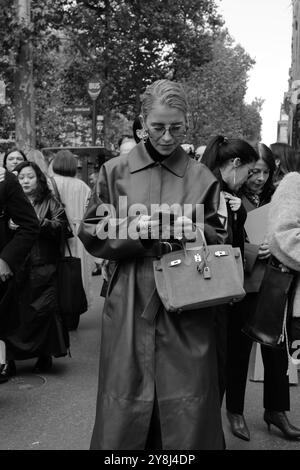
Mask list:
[[[227,243],[241,250],[244,256],[244,224],[247,213],[238,197],[238,191],[252,174],[258,155],[254,148],[241,139],[228,139],[216,136],[208,143],[201,163],[210,168],[221,184],[219,217],[227,229]],[[222,403],[226,389],[226,370],[228,347],[235,341],[232,325],[235,322],[233,307],[216,307],[215,328],[218,357],[219,392]]]

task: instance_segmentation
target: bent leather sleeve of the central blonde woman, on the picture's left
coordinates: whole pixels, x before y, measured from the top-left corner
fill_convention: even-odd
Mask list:
[[[105,165],[80,224],[78,237],[97,258],[120,260],[142,256],[146,247],[136,231],[138,217],[117,218],[108,191]]]

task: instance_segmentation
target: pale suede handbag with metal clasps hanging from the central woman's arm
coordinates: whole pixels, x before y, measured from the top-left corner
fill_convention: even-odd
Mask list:
[[[239,248],[207,245],[204,234],[154,260],[157,293],[168,312],[237,302],[245,295]]]

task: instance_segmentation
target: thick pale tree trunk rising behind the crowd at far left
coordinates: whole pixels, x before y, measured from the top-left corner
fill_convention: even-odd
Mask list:
[[[30,0],[15,0],[19,22],[30,23]],[[35,148],[32,45],[20,44],[15,72],[16,144],[28,152]]]

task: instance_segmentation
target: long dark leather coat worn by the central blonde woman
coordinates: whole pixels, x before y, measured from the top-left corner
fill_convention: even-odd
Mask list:
[[[107,217],[96,216],[97,207],[107,203],[118,208],[120,196],[128,197],[128,207],[146,205],[149,214],[154,203],[203,203],[208,243],[225,235],[216,216],[219,183],[181,147],[157,163],[140,143],[101,168],[79,231],[92,255],[117,261],[102,317],[91,448],[144,449],[156,392],[163,449],[221,449],[212,312],[167,313],[153,295],[153,258],[147,244],[97,237],[97,227],[107,222]]]

